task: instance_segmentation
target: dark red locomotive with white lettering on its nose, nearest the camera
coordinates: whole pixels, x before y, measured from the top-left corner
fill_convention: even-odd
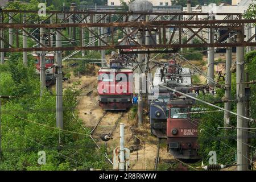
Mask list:
[[[168,102],[167,115],[167,144],[168,152],[177,159],[199,160],[197,154],[198,121],[191,119],[191,107],[194,100],[177,98]]]

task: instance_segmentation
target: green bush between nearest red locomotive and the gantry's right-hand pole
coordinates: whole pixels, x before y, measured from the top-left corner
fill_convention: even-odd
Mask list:
[[[223,90],[217,90],[216,96],[205,95],[200,96],[201,100],[214,102],[221,100],[223,96]],[[220,107],[224,107],[224,104],[216,104]],[[206,111],[214,110],[213,107],[208,105],[199,104],[199,107]],[[232,105],[234,109],[234,105]],[[231,164],[234,162],[234,155],[236,151],[236,133],[234,130],[228,130],[225,133],[225,130],[218,130],[218,126],[224,125],[223,119],[224,113],[222,111],[213,113],[201,113],[194,115],[196,118],[200,118],[199,124],[199,144],[200,150],[199,153],[203,158],[204,164],[208,164],[209,152],[216,151],[217,153],[217,163],[221,164]],[[236,117],[232,115],[231,125],[234,125],[236,122]],[[233,148],[233,149],[232,149]],[[225,158],[223,158],[225,156]]]

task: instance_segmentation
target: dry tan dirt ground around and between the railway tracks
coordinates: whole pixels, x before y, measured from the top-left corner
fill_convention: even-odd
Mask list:
[[[225,59],[225,55],[217,55],[214,57],[215,60],[219,58]],[[159,61],[166,61],[166,60],[159,60]],[[207,63],[207,57],[204,57],[205,63]],[[233,60],[234,61],[234,60]],[[192,61],[193,64],[196,64],[196,61]],[[194,63],[195,62],[195,63]],[[156,67],[151,70],[151,73],[154,74]],[[207,66],[202,67],[204,72],[207,72]],[[222,75],[225,73],[225,64],[218,64],[214,66],[214,69],[223,70]],[[206,81],[206,78],[201,75],[200,79],[202,84]],[[82,119],[84,126],[93,128],[98,120],[104,114],[104,110],[98,105],[98,96],[97,96],[97,76],[81,76],[75,77],[71,76],[71,82],[80,81],[81,88],[84,85],[88,85],[86,88],[82,89],[81,96],[79,96],[79,104],[77,105],[77,110],[79,111],[79,118]],[[64,88],[68,86],[67,81],[64,82]],[[90,90],[93,90],[93,93],[90,96],[86,96]],[[113,126],[114,123],[117,121],[120,113],[110,112],[107,113],[104,118],[104,121],[101,123],[104,124],[100,126],[100,130],[104,131],[104,127]],[[123,117],[120,119],[119,123],[125,123],[125,146],[130,147],[133,146],[133,134],[131,129],[134,127],[134,119],[130,118],[130,111],[127,111],[123,114]],[[158,147],[158,139],[150,134],[150,130],[148,129],[148,123],[145,124],[142,128],[143,131],[138,135],[141,139],[140,147],[138,152],[133,151],[130,155],[130,170],[154,170],[155,167],[155,158],[156,152]],[[107,151],[109,156],[112,155],[112,152],[115,147],[119,147],[119,125],[115,129],[113,133],[113,139],[109,140],[107,146]],[[173,157],[168,154],[166,145],[164,145],[164,141],[162,142],[160,147],[160,160],[163,159],[173,159]],[[138,160],[137,160],[138,156]],[[233,168],[230,168],[233,169]]]

